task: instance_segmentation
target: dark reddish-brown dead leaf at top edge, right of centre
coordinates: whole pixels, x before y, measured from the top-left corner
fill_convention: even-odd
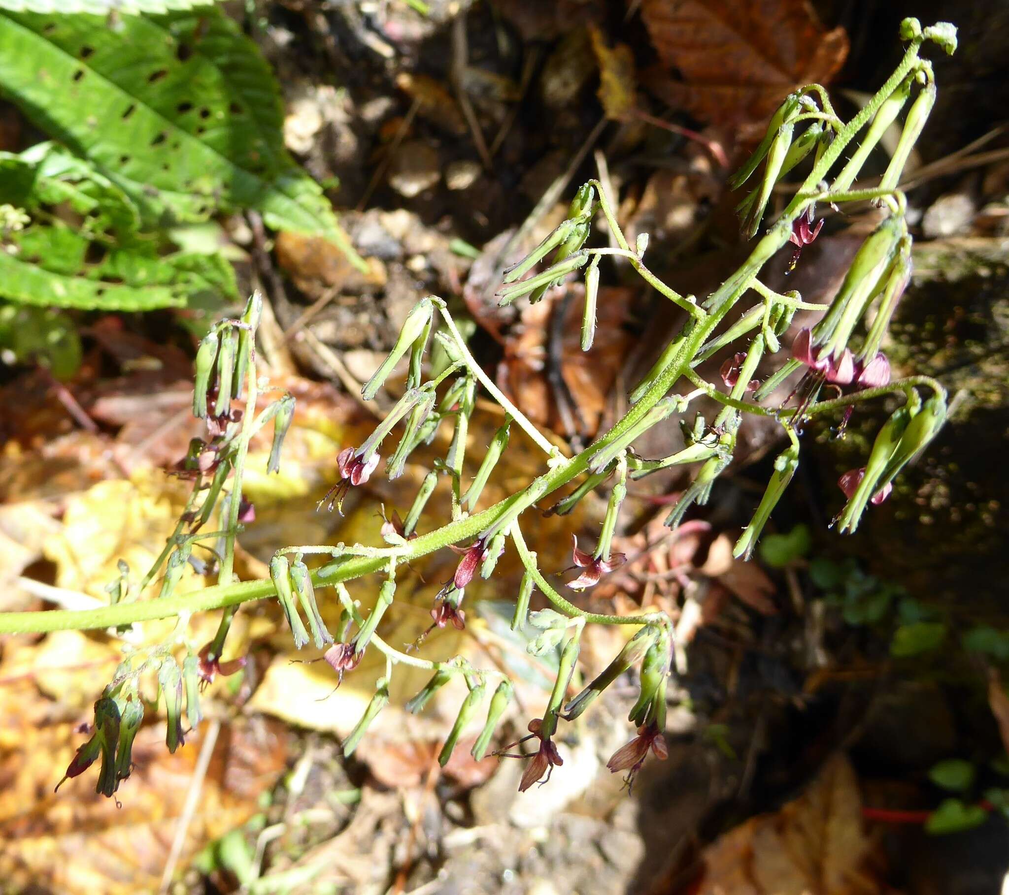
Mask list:
[[[848,56],[845,29],[824,29],[807,0],[644,0],[641,14],[662,67],[649,89],[726,127],[763,122],[789,91],[829,82]]]

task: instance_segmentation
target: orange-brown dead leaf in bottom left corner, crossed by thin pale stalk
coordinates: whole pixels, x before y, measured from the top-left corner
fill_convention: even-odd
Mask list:
[[[44,889],[103,895],[156,891],[189,792],[202,737],[175,755],[163,725],[148,725],[133,747],[136,768],[117,795],[94,791],[94,777],[53,793],[83,741],[70,724],[30,728],[0,748],[0,879],[10,891]],[[286,735],[273,723],[240,722],[221,731],[179,863],[244,823],[287,762]]]

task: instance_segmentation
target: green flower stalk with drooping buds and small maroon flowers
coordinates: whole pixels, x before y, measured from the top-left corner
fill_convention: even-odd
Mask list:
[[[286,547],[273,556],[268,580],[235,581],[235,541],[243,520],[250,513],[242,500],[242,475],[249,439],[264,425],[272,424],[273,443],[268,469],[275,471],[285,432],[291,423],[294,399],[284,396],[256,415],[256,398],[263,387],[257,376],[254,349],[261,305],[258,296],[250,299],[240,319],[219,324],[204,339],[196,358],[194,413],[207,421],[208,439],[198,439],[193,444],[180,469],[181,474],[194,480],[190,503],[160,557],[139,583],[139,589],[130,587],[128,569],[124,569],[122,580],[112,589],[111,605],[106,608],[0,616],[0,633],[18,633],[118,627],[147,619],[188,617],[194,612],[224,610],[218,633],[209,644],[188,644],[185,634],[180,635],[189,650],[181,668],[174,652],[178,642],[143,654],[138,651],[126,658],[96,704],[94,734],[78,751],[67,775],[82,773],[101,757],[98,789],[107,795],[112,795],[121,780],[129,775],[132,738],[143,717],[144,702],[138,687],[145,669],[156,671],[169,717],[167,746],[174,751],[182,745],[184,702],[189,724],[195,727],[201,719],[201,686],[218,673],[231,673],[240,667],[239,660],[222,661],[234,612],[246,601],[272,597],[284,609],[296,646],[301,648],[311,640],[318,648],[326,649],[325,659],[340,678],[353,672],[368,649],[378,650],[385,657],[385,672],[376,685],[374,696],[344,743],[346,754],[356,748],[368,726],[388,702],[388,684],[397,666],[406,665],[432,672],[428,684],[408,705],[411,711],[421,711],[431,694],[453,677],[461,676],[465,680],[468,694],[446,740],[441,761],[443,764],[448,761],[463,729],[478,717],[484,717],[485,722],[472,753],[475,758],[482,758],[512,697],[508,677],[497,670],[472,667],[462,657],[429,661],[398,650],[382,640],[380,623],[395,602],[397,574],[403,566],[435,550],[453,547],[461,556],[452,581],[442,589],[432,607],[431,630],[448,624],[463,627],[465,612],[461,604],[466,587],[476,574],[492,576],[498,557],[509,544],[515,548],[525,568],[513,625],[519,628],[528,620],[540,632],[530,644],[530,650],[535,653],[559,651],[560,657],[543,717],[529,724],[530,734],[525,739],[537,741],[538,748],[522,777],[522,788],[528,788],[544,775],[549,776],[555,766],[563,764],[553,739],[560,723],[577,718],[609,684],[637,665],[640,665],[640,696],[630,712],[637,736],[610,759],[608,766],[614,772],[628,771],[634,775],[650,751],[664,758],[666,684],[674,635],[669,618],[658,612],[637,616],[588,613],[571,603],[539,568],[536,554],[525,539],[524,516],[540,501],[577,480],[580,481],[575,489],[560,498],[554,511],[569,511],[589,491],[613,480],[598,543],[592,551],[579,549],[577,543],[574,546],[573,561],[581,572],[567,587],[584,590],[624,561],[622,554],[611,552],[610,544],[627,493],[628,478],[639,479],[674,465],[698,465],[692,484],[667,519],[667,524],[675,527],[692,505],[708,500],[712,483],[733,459],[744,414],[775,419],[788,445],[776,459],[763,498],[736,544],[737,556],[752,553],[771,512],[794,476],[800,461],[800,434],[807,420],[828,413],[848,412],[859,402],[883,395],[905,398],[904,404],[881,428],[865,466],[842,477],[840,487],[848,498],[837,517],[843,532],[856,530],[868,505],[886,498],[894,477],[934,436],[944,418],[944,390],[937,382],[923,376],[891,381],[889,363],[881,346],[910,272],[911,238],[905,220],[905,200],[897,188],[898,182],[935,97],[931,66],[919,52],[926,40],[952,52],[956,30],[944,23],[922,29],[916,19],[906,19],[901,26],[901,36],[908,41],[908,47],[900,65],[851,121],[846,123],[837,117],[825,90],[819,85],[803,87],[782,103],[763,142],[732,181],[734,188],[738,188],[760,171],[756,187],[740,207],[751,236],[760,230],[771,193],[781,178],[807,156],[811,156],[811,168],[784,212],[760,237],[749,258],[703,301],[676,292],[645,266],[647,237],[639,237],[632,248],[614,219],[609,198],[595,180],[578,190],[565,221],[528,256],[504,271],[504,282],[498,292],[502,303],[525,295],[531,300],[539,300],[569,274],[585,268],[582,348],[586,350],[594,336],[602,256],[628,259],[646,282],[686,312],[681,331],[631,391],[628,412],[580,453],[564,456],[480,367],[446,303],[434,295],[424,298],[408,316],[391,353],[362,392],[364,399],[373,398],[397,364],[409,358],[403,397],[364,443],[345,448],[340,453],[340,481],[323,500],[330,508],[339,509],[349,489],[361,486],[376,474],[382,459],[382,445],[400,423],[403,423],[403,433],[399,445],[386,462],[389,478],[402,474],[410,455],[419,445],[429,443],[442,422],[449,424],[453,437],[444,461],[424,479],[406,520],[394,514],[393,519],[386,521],[382,527],[385,540],[382,546],[339,543]],[[879,186],[852,188],[869,153],[909,102],[900,140]],[[860,136],[864,128],[866,132]],[[846,152],[848,160],[842,164]],[[838,164],[840,169],[834,172]],[[822,223],[815,217],[817,205],[863,201],[875,203],[884,217],[856,254],[844,282],[828,304],[805,302],[797,292],[776,292],[760,279],[764,266],[786,244],[795,247],[794,265],[802,246],[816,238]],[[615,242],[612,247],[588,246],[591,225],[599,213],[604,216]],[[548,255],[552,257],[546,268],[534,272]],[[738,321],[723,327],[730,310],[752,294],[757,299],[754,306]],[[865,328],[863,321],[873,306],[872,323]],[[782,351],[781,339],[798,309],[821,316],[813,327],[803,329],[795,338],[786,350],[789,359],[778,371],[759,382],[755,379],[758,365]],[[746,345],[722,367],[725,391],[695,372],[701,361],[743,341],[744,337],[748,339]],[[429,345],[439,348],[437,364],[426,362]],[[779,407],[766,406],[769,396],[790,375],[799,371],[803,371],[803,376],[789,399]],[[689,383],[689,390],[673,393],[684,380]],[[837,394],[821,399],[826,384]],[[921,394],[922,389],[927,390],[927,396]],[[504,409],[507,418],[487,448],[472,483],[464,488],[467,430],[480,390]],[[636,454],[634,443],[645,431],[674,414],[684,414],[691,402],[701,396],[716,401],[721,405],[720,410],[711,421],[698,417],[682,451],[659,460],[646,460]],[[481,491],[507,449],[512,425],[522,428],[542,450],[542,474],[517,493],[478,509]],[[451,489],[452,518],[432,531],[418,532],[424,507],[441,481],[446,481]],[[203,526],[212,518],[221,519],[221,530],[203,531]],[[193,546],[207,541],[215,544],[220,555],[217,586],[194,594],[175,594],[175,585],[186,562],[192,559]],[[308,554],[323,554],[329,558],[321,568],[310,571],[304,561]],[[374,572],[383,574],[384,580],[374,608],[365,618],[351,599],[346,583]],[[142,593],[158,577],[161,585],[157,599],[143,602],[127,599],[131,594]],[[330,589],[342,607],[336,636],[323,622],[317,605],[317,589]],[[553,609],[530,615],[530,597],[536,589]],[[568,699],[568,687],[586,624],[631,625],[639,631],[595,679],[574,698]],[[491,684],[492,694],[487,701]],[[484,702],[487,702],[485,716],[482,715]]]

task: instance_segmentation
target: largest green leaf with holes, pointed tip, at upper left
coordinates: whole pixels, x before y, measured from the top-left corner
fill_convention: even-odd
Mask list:
[[[0,87],[146,221],[255,209],[269,227],[326,236],[363,265],[284,148],[265,59],[214,7],[111,26],[95,15],[0,12]]]

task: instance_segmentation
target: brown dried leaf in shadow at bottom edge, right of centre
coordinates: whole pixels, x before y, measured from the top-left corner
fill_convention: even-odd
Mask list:
[[[863,829],[862,798],[837,755],[805,792],[730,830],[702,855],[694,895],[874,895],[882,884]]]

